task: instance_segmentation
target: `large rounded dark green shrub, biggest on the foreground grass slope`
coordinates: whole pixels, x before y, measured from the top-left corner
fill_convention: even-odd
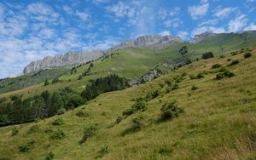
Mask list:
[[[164,106],[162,106],[160,111],[161,119],[167,120],[178,117],[178,115],[183,112],[183,109],[177,107],[176,103],[173,101],[171,103],[166,103]]]

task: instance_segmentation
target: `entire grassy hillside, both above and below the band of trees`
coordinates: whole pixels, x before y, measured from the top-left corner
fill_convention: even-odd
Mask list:
[[[252,46],[256,41],[236,41],[240,34],[219,37],[222,41],[177,43],[163,49],[122,49],[96,60],[90,76],[82,80],[78,77],[89,64],[72,75],[59,77],[62,83],[40,83],[0,94],[30,96],[65,86],[81,90],[89,79],[110,72],[127,78],[140,77],[166,59],[178,58],[177,50],[184,44],[189,50],[188,57],[195,61],[168,70],[154,81],[101,94],[63,115],[0,128],[0,159],[255,159],[256,49]],[[246,47],[252,51],[241,49]],[[237,54],[231,55],[230,51],[235,50]],[[207,51],[212,51],[215,57],[196,61]],[[252,56],[244,58],[247,52]],[[216,64],[226,70],[219,71],[221,67]],[[124,111],[137,104],[138,98],[144,99],[155,91],[158,94],[149,94],[152,96],[145,99],[142,111],[123,116]],[[183,111],[163,121],[160,109],[172,101]],[[53,125],[58,118],[63,124]],[[84,135],[88,139],[81,144]]]

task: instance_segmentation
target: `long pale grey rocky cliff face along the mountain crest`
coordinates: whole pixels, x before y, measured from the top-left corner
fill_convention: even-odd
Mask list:
[[[24,74],[34,71],[41,71],[46,69],[53,69],[60,66],[84,64],[91,60],[96,60],[104,54],[111,54],[113,51],[125,49],[127,47],[142,47],[142,48],[156,48],[164,47],[175,42],[182,42],[180,37],[171,36],[142,36],[135,40],[124,41],[117,46],[108,50],[96,50],[90,53],[68,52],[63,55],[56,55],[55,57],[45,57],[43,60],[36,60],[26,66],[23,70]]]

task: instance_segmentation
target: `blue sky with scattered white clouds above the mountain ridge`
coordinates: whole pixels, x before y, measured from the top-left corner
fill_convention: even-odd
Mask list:
[[[256,30],[256,0],[0,0],[0,78],[33,60],[142,35]]]

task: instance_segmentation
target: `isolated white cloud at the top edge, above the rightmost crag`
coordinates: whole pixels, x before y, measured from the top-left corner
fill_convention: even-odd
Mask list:
[[[207,3],[207,1],[202,1],[201,5],[189,6],[188,12],[191,15],[192,19],[196,20],[207,14],[208,9],[209,3]]]

